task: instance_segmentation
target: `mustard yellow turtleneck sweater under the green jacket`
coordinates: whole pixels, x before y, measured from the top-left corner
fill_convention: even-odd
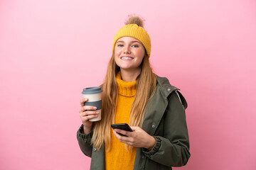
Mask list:
[[[114,123],[129,124],[130,110],[134,96],[136,93],[136,81],[122,81],[120,72],[117,74],[117,112],[114,118]],[[132,150],[127,150],[124,143],[119,142],[111,130],[110,151],[105,149],[105,169],[106,170],[120,170],[133,169],[134,160],[136,156],[136,147]]]

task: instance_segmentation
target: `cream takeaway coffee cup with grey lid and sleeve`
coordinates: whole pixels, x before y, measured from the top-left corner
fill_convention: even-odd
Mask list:
[[[96,111],[99,111],[97,118],[92,118],[89,121],[95,122],[101,120],[102,89],[100,89],[100,87],[87,87],[82,90],[82,95],[84,98],[88,98],[88,101],[85,102],[85,106],[95,106],[97,108]]]

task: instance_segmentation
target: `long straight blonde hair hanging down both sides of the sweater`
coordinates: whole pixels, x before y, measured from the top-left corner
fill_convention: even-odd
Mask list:
[[[136,94],[132,103],[129,125],[142,126],[145,108],[149,98],[156,91],[156,75],[153,73],[149,57],[145,54],[142,60],[142,71],[137,77]],[[107,74],[102,84],[102,120],[95,122],[93,127],[92,145],[100,149],[103,144],[110,149],[110,125],[114,123],[117,108],[117,81],[116,75],[120,68],[114,61],[114,54],[107,66]]]

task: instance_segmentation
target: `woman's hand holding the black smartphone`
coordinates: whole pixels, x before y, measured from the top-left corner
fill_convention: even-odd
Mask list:
[[[114,129],[114,136],[117,137],[120,142],[127,145],[131,145],[132,147],[144,147],[150,151],[156,144],[154,137],[142,130],[142,128],[135,126],[131,126],[131,128],[133,132]],[[119,135],[118,133],[126,136]]]

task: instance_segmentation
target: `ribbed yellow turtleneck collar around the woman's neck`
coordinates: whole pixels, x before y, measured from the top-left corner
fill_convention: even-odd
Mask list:
[[[117,73],[117,88],[118,94],[122,96],[132,97],[136,94],[136,80],[135,81],[122,81],[121,72]]]

